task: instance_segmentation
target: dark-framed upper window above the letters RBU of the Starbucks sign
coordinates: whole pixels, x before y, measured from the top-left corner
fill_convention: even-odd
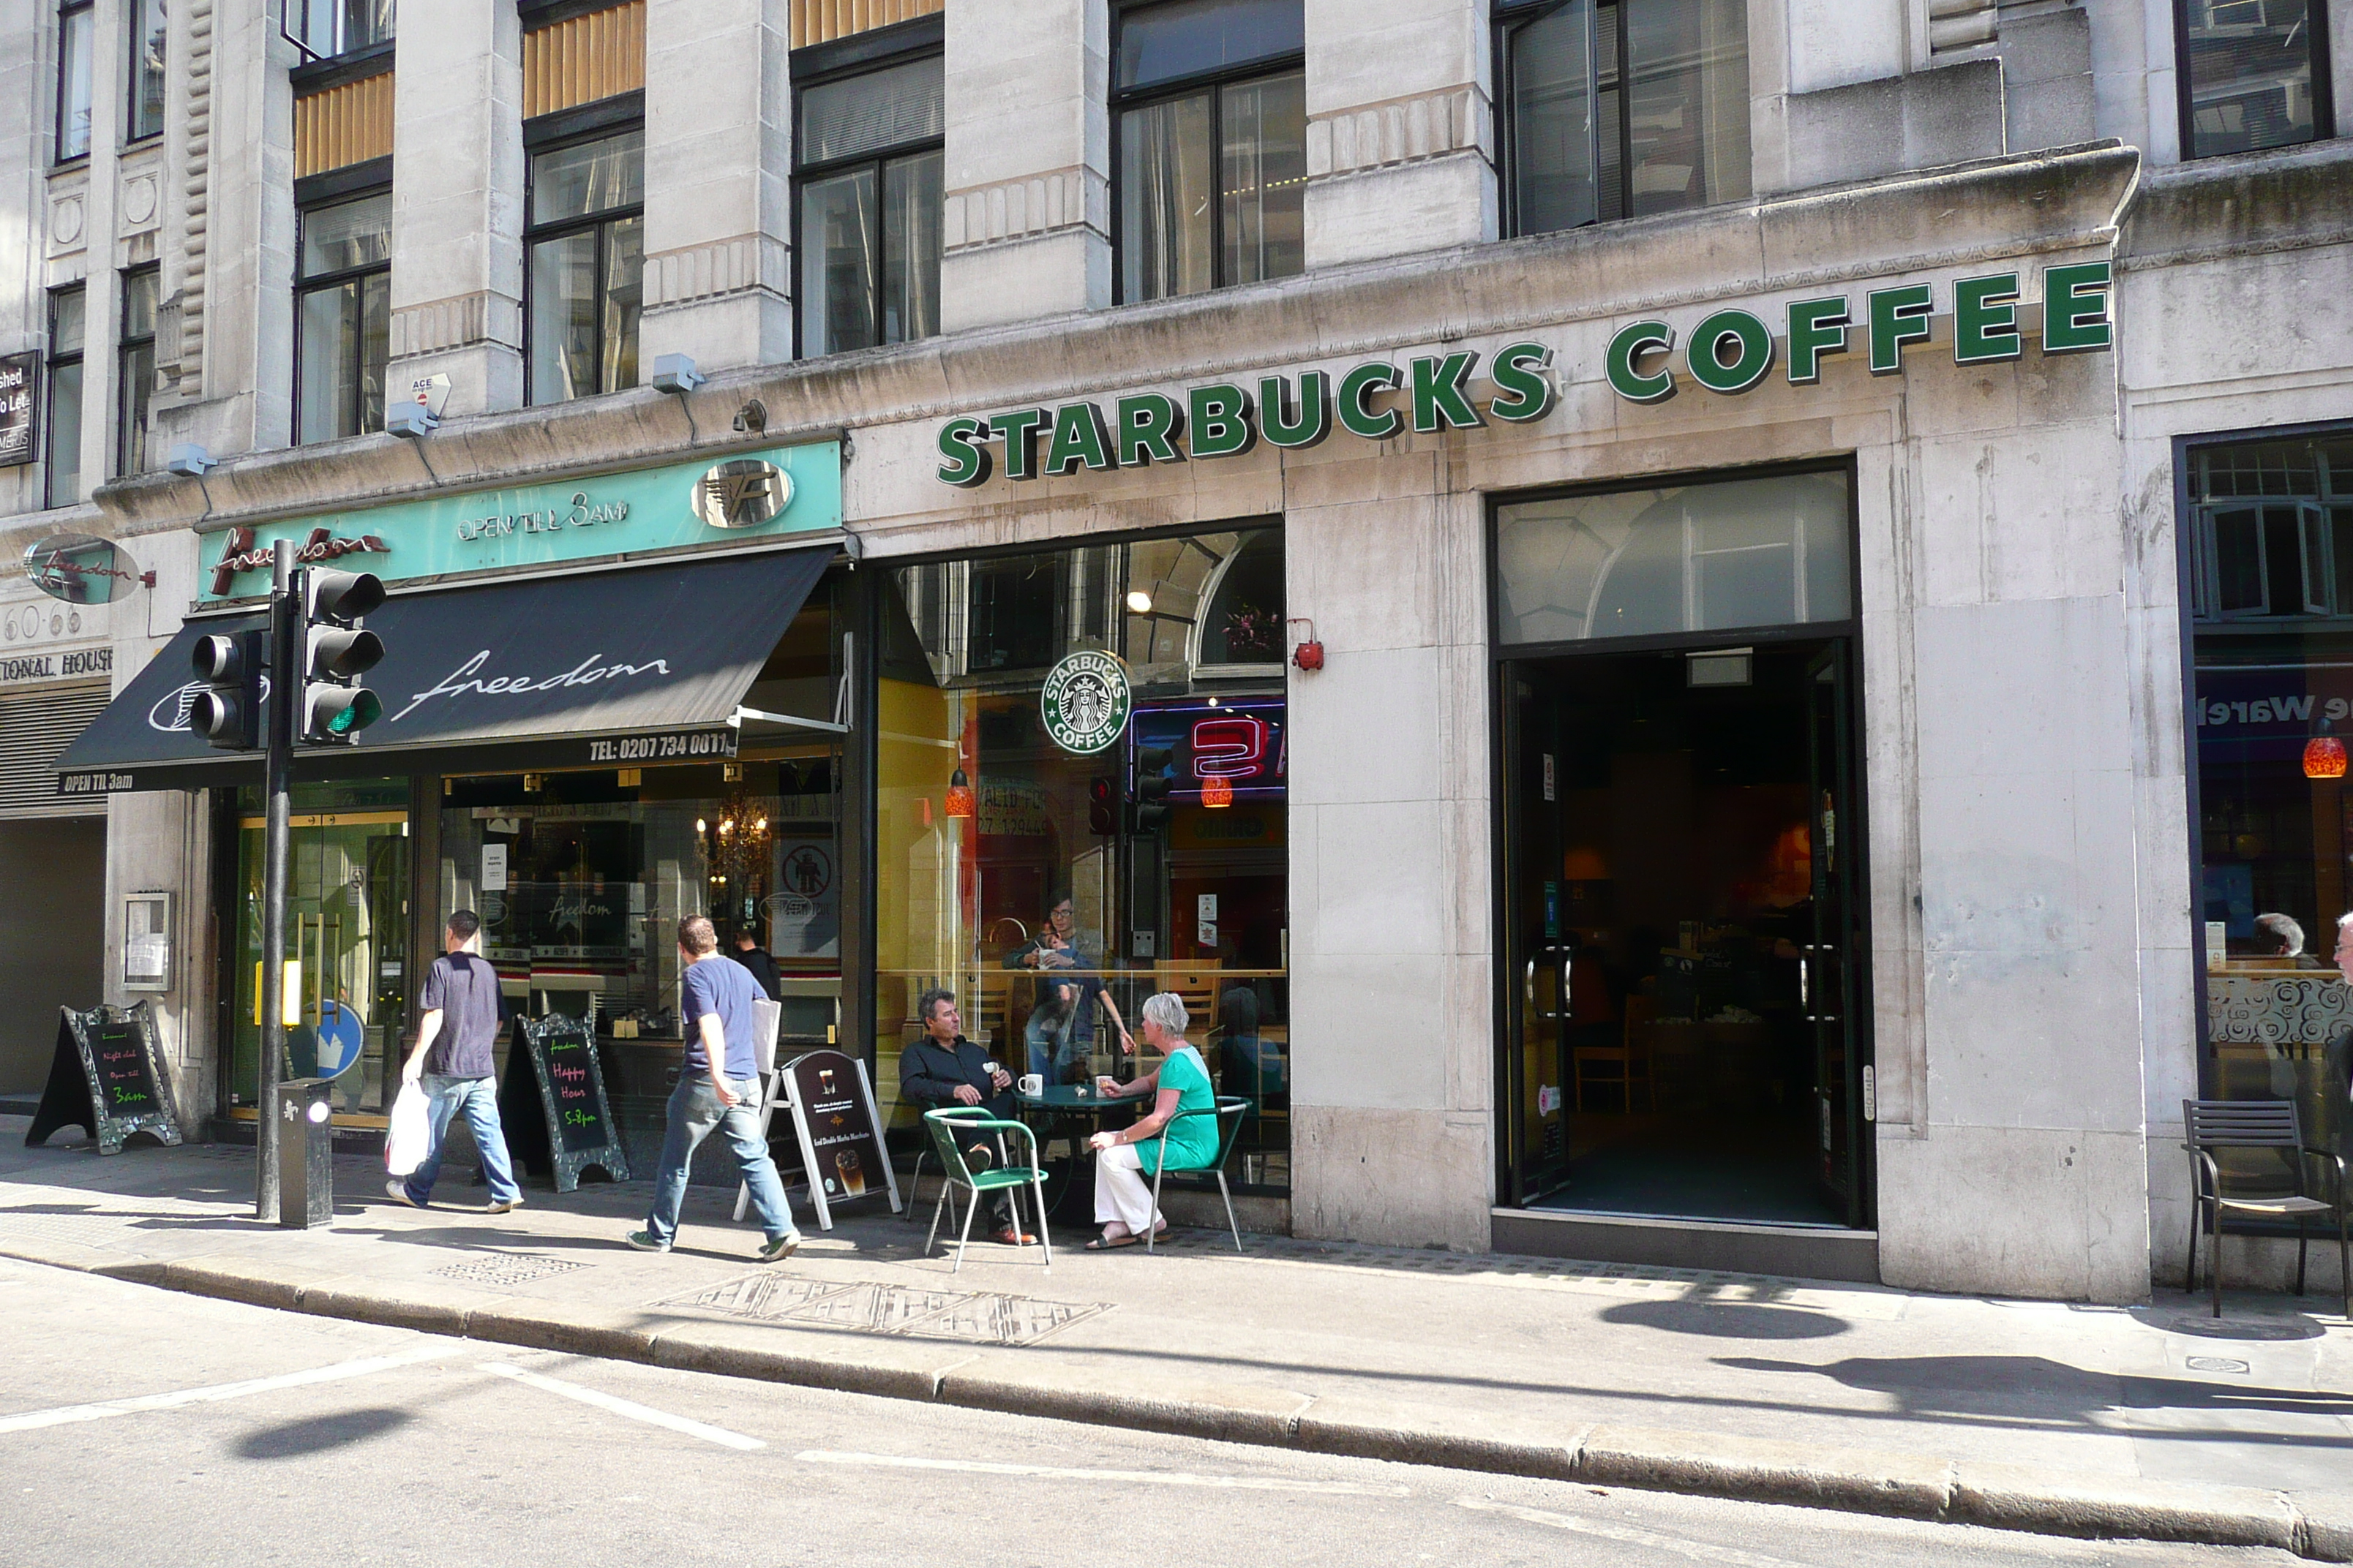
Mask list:
[[[1120,296],[1306,270],[1299,0],[1160,0],[1120,14]]]

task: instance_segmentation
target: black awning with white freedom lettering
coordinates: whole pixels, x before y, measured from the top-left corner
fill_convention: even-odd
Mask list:
[[[412,752],[536,745],[541,766],[640,766],[734,755],[736,705],[800,614],[831,550],[402,595],[367,618],[384,717],[351,748],[301,748],[296,773],[405,773]],[[259,752],[188,729],[200,621],[158,654],[56,759],[61,795],[254,783]],[[546,755],[555,745],[558,755]],[[315,766],[313,766],[315,764]]]

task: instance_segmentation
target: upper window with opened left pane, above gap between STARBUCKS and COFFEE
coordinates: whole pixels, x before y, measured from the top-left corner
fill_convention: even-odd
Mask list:
[[[1748,195],[1741,0],[1551,0],[1501,35],[1511,233]]]

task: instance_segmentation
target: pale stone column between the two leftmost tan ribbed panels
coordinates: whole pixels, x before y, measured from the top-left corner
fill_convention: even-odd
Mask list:
[[[522,24],[504,0],[402,0],[393,80],[391,395],[522,404]],[[424,172],[421,176],[416,172]]]

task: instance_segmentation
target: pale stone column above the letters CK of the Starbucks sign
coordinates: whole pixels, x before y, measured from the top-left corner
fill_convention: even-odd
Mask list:
[[[1308,268],[1497,237],[1487,0],[1308,9]]]

